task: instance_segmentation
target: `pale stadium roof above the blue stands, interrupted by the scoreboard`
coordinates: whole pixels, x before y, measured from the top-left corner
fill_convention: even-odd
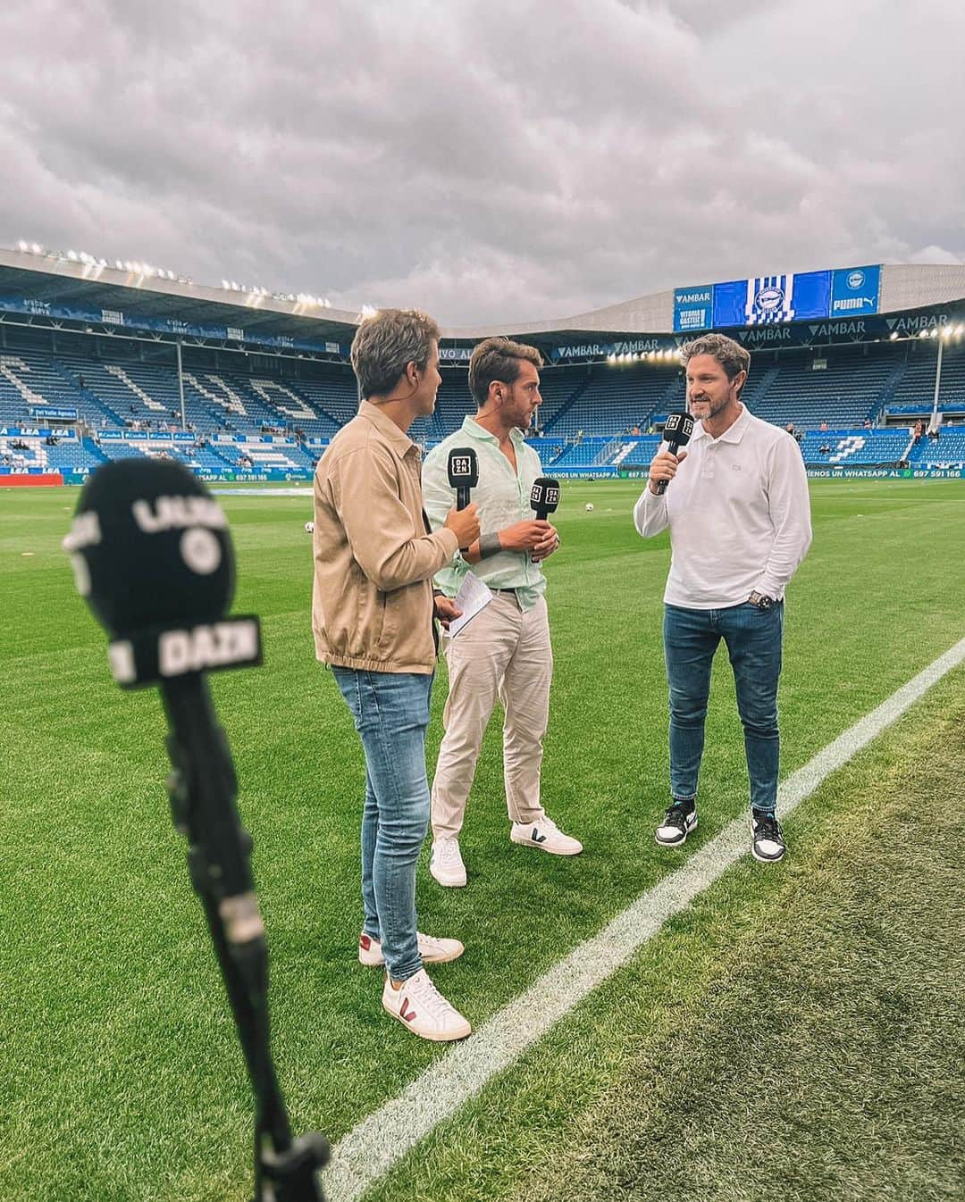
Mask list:
[[[89,256],[88,256],[89,258]],[[111,266],[67,255],[0,249],[0,298],[19,296],[41,303],[119,310],[131,317],[176,319],[191,325],[214,322],[250,335],[313,338],[343,346],[351,341],[362,314],[337,310],[316,298],[289,299],[264,290],[199,285],[141,264]],[[965,304],[965,266],[886,264],[881,273],[878,313],[907,313],[941,304]],[[546,344],[587,334],[669,334],[674,329],[674,292],[667,290],[621,304],[550,321],[507,326],[445,328],[443,338],[476,341],[492,334],[531,337]]]

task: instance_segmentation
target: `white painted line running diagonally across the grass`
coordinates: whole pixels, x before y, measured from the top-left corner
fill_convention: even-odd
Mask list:
[[[777,792],[780,814],[791,814],[963,660],[965,638],[792,773]],[[747,820],[735,819],[685,864],[493,1014],[474,1035],[454,1045],[398,1097],[347,1132],[335,1146],[331,1167],[324,1174],[328,1202],[356,1202],[420,1139],[451,1118],[496,1073],[508,1069],[626,964],[668,918],[714,885],[747,852]]]

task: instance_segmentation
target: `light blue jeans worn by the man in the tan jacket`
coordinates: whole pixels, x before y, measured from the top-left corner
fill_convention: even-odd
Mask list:
[[[432,676],[332,667],[366,756],[363,930],[381,941],[395,981],[422,968],[415,864],[428,828],[426,727]]]

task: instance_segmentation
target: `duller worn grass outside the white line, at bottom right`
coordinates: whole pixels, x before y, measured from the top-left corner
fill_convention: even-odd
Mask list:
[[[965,1180],[965,671],[368,1202],[940,1202]]]

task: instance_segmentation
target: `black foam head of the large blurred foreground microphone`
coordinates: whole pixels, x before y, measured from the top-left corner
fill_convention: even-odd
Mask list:
[[[64,549],[78,591],[112,637],[217,621],[235,591],[224,511],[174,460],[138,456],[99,468]]]

